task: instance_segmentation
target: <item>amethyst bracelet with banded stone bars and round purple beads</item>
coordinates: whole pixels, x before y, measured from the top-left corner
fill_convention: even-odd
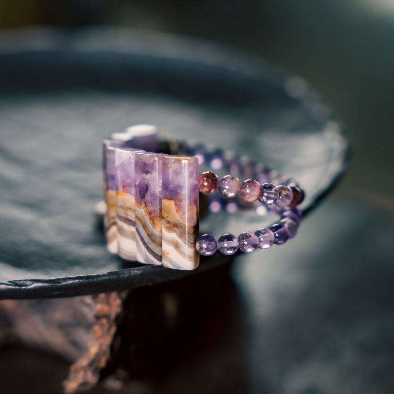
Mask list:
[[[225,255],[238,250],[250,253],[296,235],[302,217],[297,205],[304,192],[296,181],[281,181],[262,164],[201,144],[159,140],[152,125],[113,133],[102,146],[107,249],[125,260],[189,270],[197,268],[199,255],[211,256],[217,250]],[[207,163],[212,170],[226,169],[230,174],[221,179],[212,171],[198,175],[199,165]],[[240,183],[237,173],[248,179]],[[208,201],[211,212],[223,205],[233,212],[258,204],[256,210],[265,207],[281,219],[238,237],[198,236],[199,193],[209,199],[216,191],[219,198]],[[225,203],[236,196],[238,204]]]

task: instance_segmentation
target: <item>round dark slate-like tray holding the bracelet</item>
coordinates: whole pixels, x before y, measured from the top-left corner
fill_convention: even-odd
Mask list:
[[[101,140],[130,124],[232,148],[291,174],[304,212],[345,164],[339,125],[301,78],[211,43],[124,29],[30,29],[0,36],[0,298],[77,296],[195,271],[127,265],[92,215]],[[272,218],[218,214],[201,230],[257,229]],[[296,241],[293,241],[296,242]]]

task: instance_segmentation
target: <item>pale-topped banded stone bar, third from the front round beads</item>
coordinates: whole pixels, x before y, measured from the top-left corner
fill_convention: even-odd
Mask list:
[[[134,197],[134,158],[137,152],[144,151],[124,147],[115,152],[118,255],[131,261],[137,258]]]

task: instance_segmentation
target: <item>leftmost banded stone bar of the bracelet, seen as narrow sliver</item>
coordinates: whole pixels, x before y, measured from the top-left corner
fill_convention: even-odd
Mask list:
[[[118,240],[116,230],[116,171],[115,152],[118,148],[126,145],[126,141],[104,139],[102,143],[103,156],[103,197],[107,204],[104,214],[104,228],[107,241],[107,249],[111,253],[118,253]]]

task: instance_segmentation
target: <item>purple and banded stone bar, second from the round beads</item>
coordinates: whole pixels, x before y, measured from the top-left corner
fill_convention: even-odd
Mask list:
[[[162,264],[162,163],[159,153],[134,155],[137,261]]]

